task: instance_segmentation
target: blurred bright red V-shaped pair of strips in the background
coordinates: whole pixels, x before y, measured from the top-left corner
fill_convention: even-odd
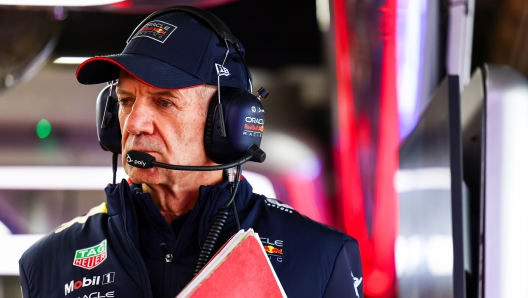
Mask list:
[[[380,31],[383,62],[380,92],[380,123],[375,181],[372,235],[365,221],[358,162],[358,139],[345,0],[333,0],[336,51],[338,145],[335,152],[339,197],[345,231],[359,241],[364,290],[369,297],[394,297],[394,243],[397,231],[397,197],[394,173],[398,168],[398,114],[396,97],[396,0],[382,7]],[[349,36],[352,40],[349,40]],[[352,42],[351,42],[352,41]]]

